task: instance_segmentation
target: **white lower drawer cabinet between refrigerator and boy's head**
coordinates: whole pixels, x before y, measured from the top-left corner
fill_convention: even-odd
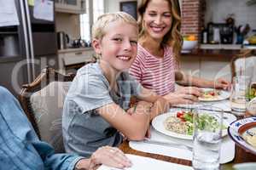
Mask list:
[[[93,60],[93,48],[67,48],[58,51],[59,71],[74,72]]]

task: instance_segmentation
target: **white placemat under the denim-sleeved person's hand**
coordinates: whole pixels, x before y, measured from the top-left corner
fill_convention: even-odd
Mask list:
[[[180,165],[177,163],[171,163],[167,161],[159,161],[144,156],[135,156],[130,154],[126,154],[126,156],[131,160],[132,167],[125,168],[125,170],[193,170],[192,167]],[[118,168],[107,167],[102,165],[97,170],[118,170]]]

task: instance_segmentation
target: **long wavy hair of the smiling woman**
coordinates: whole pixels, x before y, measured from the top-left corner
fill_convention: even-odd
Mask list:
[[[172,26],[163,38],[162,44],[172,46],[176,63],[179,63],[179,56],[182,49],[183,37],[181,35],[181,10],[178,0],[165,0],[170,4],[172,11]],[[143,14],[146,11],[150,0],[141,0],[137,7],[138,12],[138,25],[139,25],[139,37],[143,37],[145,34],[143,28]]]

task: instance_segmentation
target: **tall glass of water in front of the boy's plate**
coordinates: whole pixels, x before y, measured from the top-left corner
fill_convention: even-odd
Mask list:
[[[194,111],[193,160],[194,169],[219,169],[220,145],[224,111],[203,106]]]

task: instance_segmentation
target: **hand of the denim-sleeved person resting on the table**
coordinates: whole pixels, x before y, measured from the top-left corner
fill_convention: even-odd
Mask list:
[[[103,146],[96,150],[90,157],[92,165],[107,165],[109,167],[125,168],[131,167],[131,161],[125,156],[125,154],[116,147]]]

